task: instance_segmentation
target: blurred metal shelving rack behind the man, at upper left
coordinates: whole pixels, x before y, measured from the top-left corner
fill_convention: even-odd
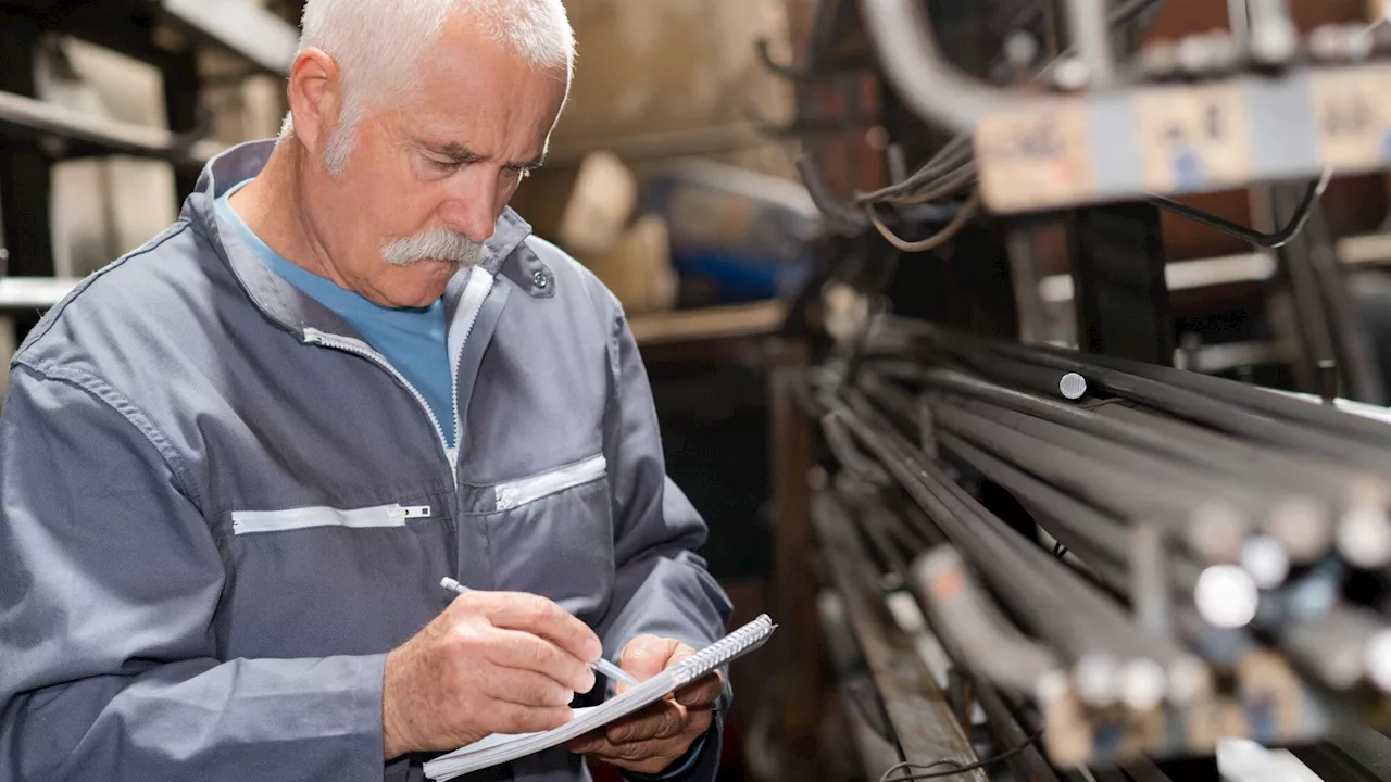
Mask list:
[[[164,78],[168,129],[85,117],[36,100],[35,58],[45,35],[89,40],[154,65]],[[56,161],[132,154],[175,166],[179,198],[217,145],[204,138],[196,51],[216,46],[248,72],[285,75],[298,32],[250,0],[0,1],[0,225],[6,274],[51,277],[50,168]]]

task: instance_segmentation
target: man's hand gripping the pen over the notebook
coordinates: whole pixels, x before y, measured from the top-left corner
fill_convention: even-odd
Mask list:
[[[601,654],[598,636],[544,597],[462,594],[387,655],[385,758],[559,728],[574,693],[594,687],[588,662]]]

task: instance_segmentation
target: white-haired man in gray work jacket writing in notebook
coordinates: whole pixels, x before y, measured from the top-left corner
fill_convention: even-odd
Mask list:
[[[723,635],[623,313],[506,210],[573,46],[559,0],[309,0],[282,139],[33,330],[0,779],[420,779],[611,692],[601,654],[641,679]],[[488,778],[709,779],[722,693]]]

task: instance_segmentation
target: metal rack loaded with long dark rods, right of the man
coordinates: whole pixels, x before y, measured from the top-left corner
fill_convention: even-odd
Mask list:
[[[1328,781],[1384,778],[1391,739],[1345,721],[1391,725],[1385,672],[1362,668],[1369,657],[1358,651],[1391,643],[1385,605],[1348,587],[1341,600],[1305,605],[1308,615],[1289,607],[1309,590],[1338,591],[1344,579],[1383,579],[1391,564],[1387,497],[1352,488],[1355,473],[1374,473],[1369,487],[1385,480],[1391,440],[1358,417],[1366,408],[1335,398],[1380,391],[1363,381],[1355,324],[1334,317],[1344,306],[1340,264],[1319,212],[1331,175],[1391,164],[1381,146],[1391,120],[1365,110],[1391,74],[1385,31],[1328,26],[1301,39],[1284,3],[1262,0],[1251,3],[1249,36],[1180,42],[1191,43],[1184,57],[1214,57],[1205,65],[1166,65],[1163,57],[1178,56],[1173,49],[1120,61],[1107,24],[1153,4],[1121,3],[1107,19],[1104,3],[1067,1],[1075,51],[1035,58],[1006,88],[947,63],[951,33],[935,36],[925,13],[931,7],[944,28],[949,13],[936,11],[947,4],[861,0],[892,96],[956,141],[922,143],[917,173],[900,163],[900,174],[869,192],[828,184],[804,164],[835,235],[817,285],[854,289],[867,312],[889,301],[919,305],[915,316],[954,328],[862,316],[857,327],[812,331],[815,358],[794,394],[804,415],[785,413],[772,447],[779,470],[793,474],[778,502],[779,583],[790,593],[783,611],[797,632],[811,598],[793,589],[805,580],[796,559],[808,548],[817,554],[801,568],[829,565],[822,583],[861,646],[855,611],[882,614],[911,594],[958,675],[1000,692],[985,721],[993,740],[974,737],[986,760],[1020,751],[1006,761],[1013,778],[1081,778],[1070,774],[1091,767],[1097,779],[1216,779],[1212,760],[1205,768],[1171,761],[1212,754],[1220,736],[1296,747]],[[938,138],[911,122],[889,132],[903,145]],[[1302,182],[1284,185],[1289,179]],[[1263,206],[1270,220],[1257,220],[1273,225],[1259,230],[1168,198],[1267,182],[1281,188]],[[1021,330],[1031,345],[1020,345],[1013,324],[981,328],[971,312],[922,303],[946,280],[924,269],[995,260],[950,230],[976,193],[997,235],[1067,225],[1072,270],[1047,287],[1054,306],[1075,309],[1082,353],[1038,346],[1046,338],[1039,313]],[[1157,207],[1257,252],[1200,270],[1166,266]],[[906,241],[881,242],[875,216]],[[943,224],[944,253],[931,241]],[[1036,289],[1027,242],[1007,244],[1014,294]],[[925,252],[896,252],[910,248]],[[1174,345],[1170,277],[1181,278],[1178,288],[1232,280],[1298,299],[1303,333],[1259,346],[1298,365],[1299,387],[1324,399],[1168,369],[1175,356],[1199,363],[1196,351]],[[953,294],[975,301],[999,288]],[[818,303],[833,306],[830,296]],[[982,338],[990,327],[1004,340]],[[1310,334],[1320,328],[1323,338]],[[807,462],[803,444],[814,454]],[[1303,491],[1323,500],[1305,504]],[[1213,589],[1227,575],[1257,580],[1246,594],[1259,616],[1224,618],[1246,608],[1237,605],[1244,587]],[[868,597],[849,598],[857,589]],[[805,704],[801,692],[817,682],[796,675],[789,703]],[[890,699],[881,699],[886,707]],[[970,729],[964,710],[954,711]],[[919,719],[935,724],[928,710]],[[997,729],[997,719],[1022,731]],[[1024,768],[1035,728],[1045,763]],[[894,749],[912,760],[903,742]],[[882,753],[875,763],[869,779],[883,771]]]

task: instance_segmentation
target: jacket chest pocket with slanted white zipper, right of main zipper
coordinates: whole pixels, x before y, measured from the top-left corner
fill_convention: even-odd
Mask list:
[[[613,590],[613,525],[602,455],[491,487],[470,487],[494,583],[597,621]]]

